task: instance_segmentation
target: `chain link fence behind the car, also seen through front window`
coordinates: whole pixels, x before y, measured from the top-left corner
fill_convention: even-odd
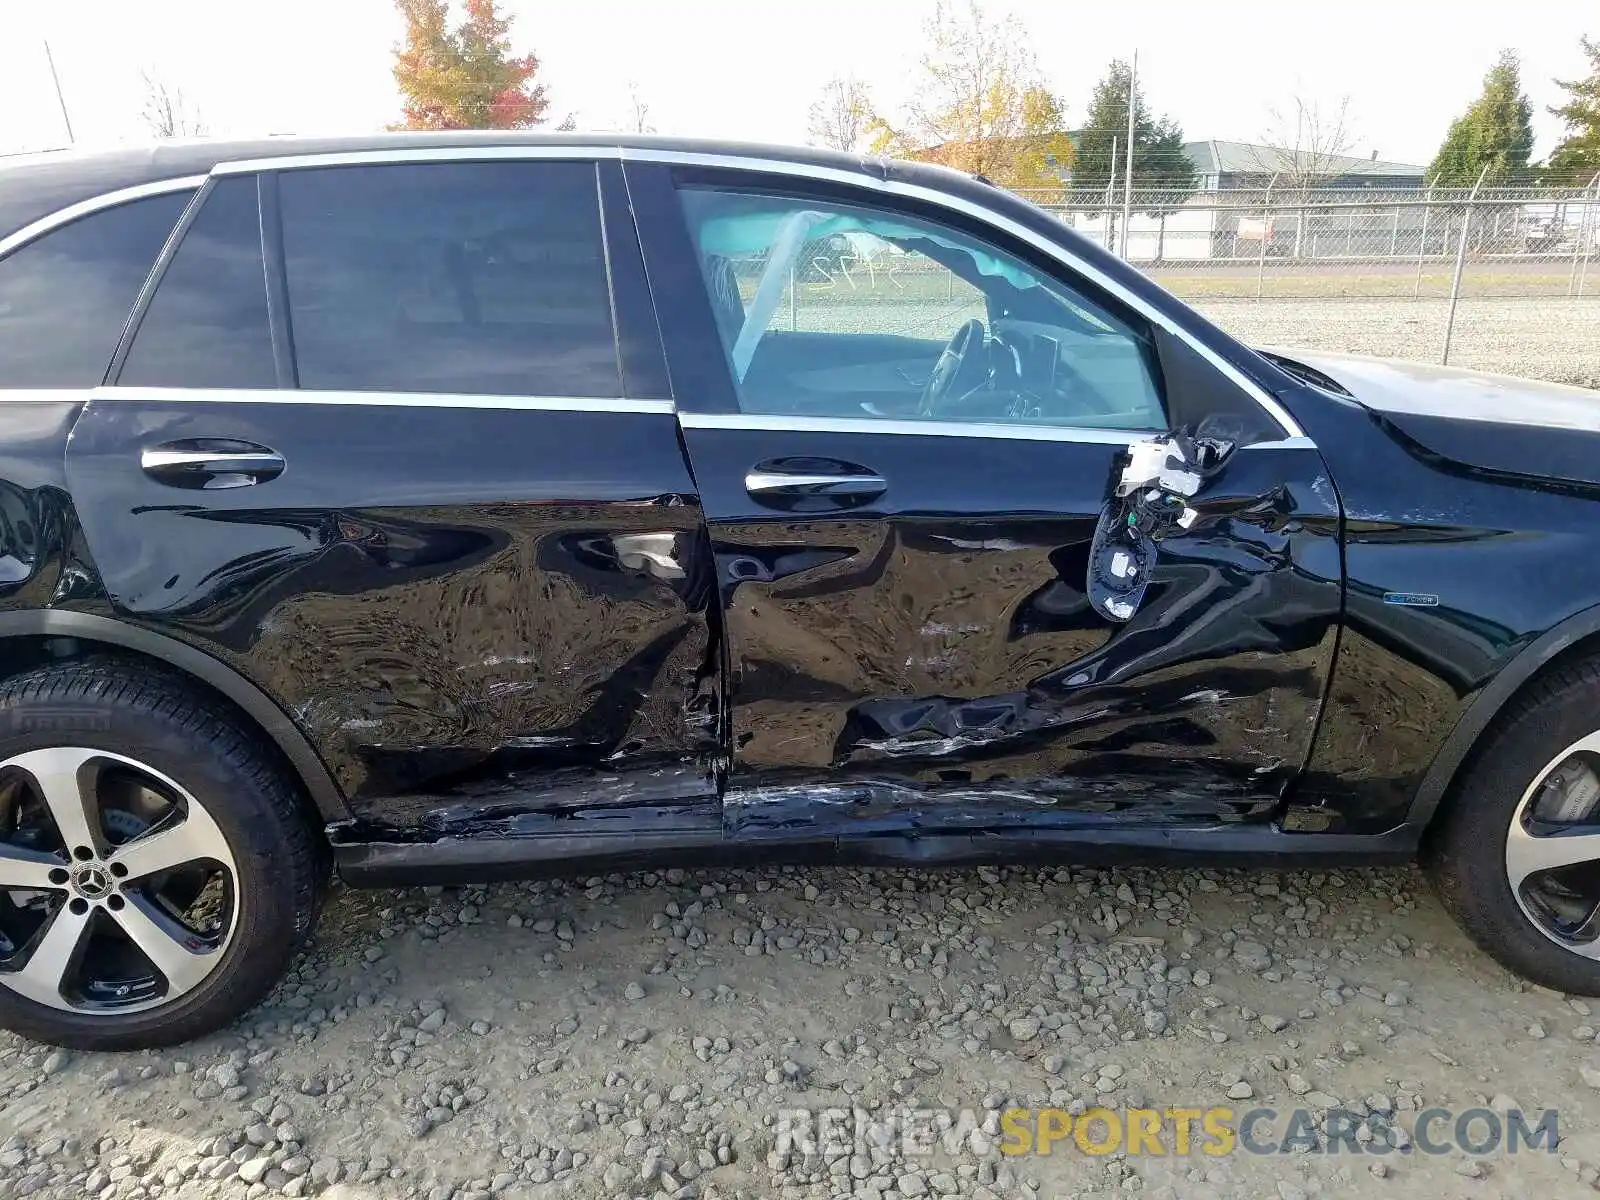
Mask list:
[[[1600,182],[1563,189],[1032,197],[1250,346],[1373,354],[1600,387]],[[746,309],[765,254],[736,256]],[[866,232],[808,243],[771,314],[795,331],[930,336],[982,294]]]

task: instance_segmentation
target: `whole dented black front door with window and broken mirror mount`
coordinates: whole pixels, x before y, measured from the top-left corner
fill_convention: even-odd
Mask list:
[[[933,197],[629,182],[718,573],[736,834],[1280,811],[1341,605],[1309,440],[1136,298]],[[848,277],[818,262],[842,238]]]

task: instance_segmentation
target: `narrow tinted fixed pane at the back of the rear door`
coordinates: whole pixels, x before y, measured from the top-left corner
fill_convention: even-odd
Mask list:
[[[162,274],[117,376],[146,387],[275,387],[256,181],[218,181]]]

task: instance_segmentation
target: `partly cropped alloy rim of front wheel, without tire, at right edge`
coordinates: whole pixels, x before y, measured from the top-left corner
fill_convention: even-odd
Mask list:
[[[1506,878],[1539,933],[1600,958],[1600,733],[1562,750],[1523,792],[1506,834]]]

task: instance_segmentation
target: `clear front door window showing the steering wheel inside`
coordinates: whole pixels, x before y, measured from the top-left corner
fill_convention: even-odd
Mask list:
[[[1144,325],[965,229],[688,187],[747,413],[1163,429]]]

